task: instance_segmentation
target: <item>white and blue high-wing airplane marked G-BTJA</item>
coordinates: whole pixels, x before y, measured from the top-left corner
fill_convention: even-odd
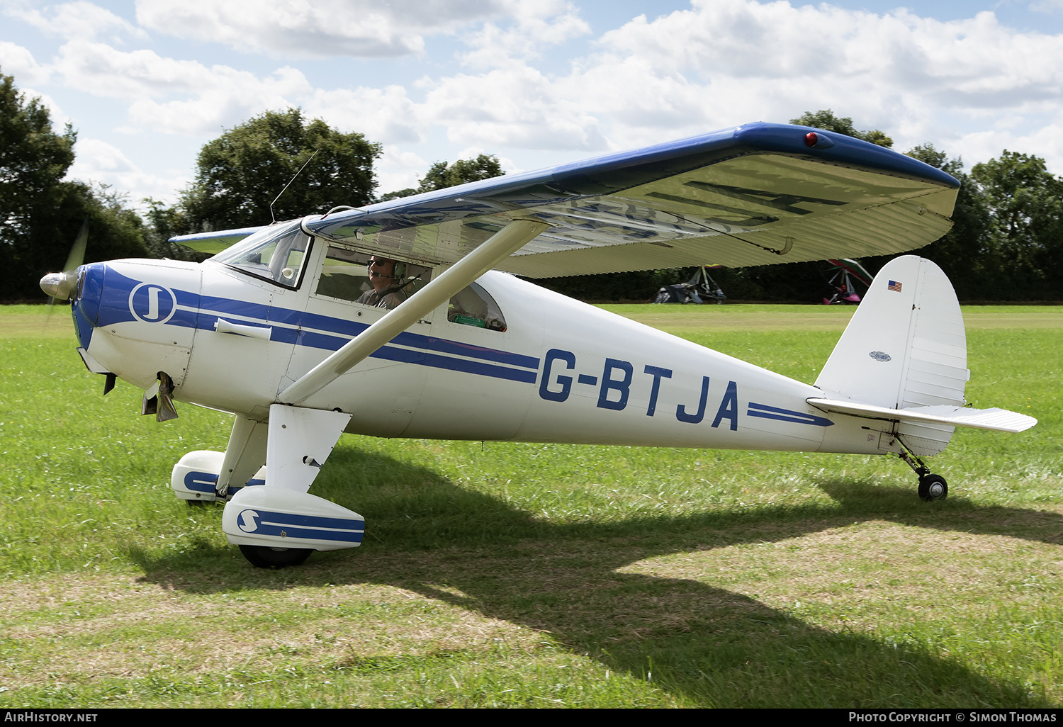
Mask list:
[[[933,263],[881,270],[814,385],[522,278],[901,253],[949,229],[958,187],[858,139],[750,123],[175,238],[217,254],[95,263],[41,287],[70,301],[104,393],[121,377],[159,421],[174,401],[235,415],[225,452],[188,453],[171,486],[225,501],[222,529],[259,567],[361,542],[361,515],[308,492],[343,432],[893,453],[937,500],[946,483],[921,457],[954,427],[1035,420],[964,406],[963,319]]]

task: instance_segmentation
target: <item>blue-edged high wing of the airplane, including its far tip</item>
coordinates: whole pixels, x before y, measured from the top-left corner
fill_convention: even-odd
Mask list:
[[[951,226],[958,188],[939,169],[859,139],[750,123],[307,218],[304,226],[433,265],[457,261],[513,219],[535,219],[549,229],[494,266],[528,277],[742,267],[923,247]],[[204,247],[252,231],[174,241]]]

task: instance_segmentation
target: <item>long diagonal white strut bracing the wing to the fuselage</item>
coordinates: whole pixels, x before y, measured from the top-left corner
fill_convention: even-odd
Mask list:
[[[283,404],[306,401],[336,378],[372,355],[377,349],[453,298],[458,291],[513,254],[550,227],[539,220],[512,220],[486,242],[448,268],[370,325],[357,338],[310,369],[277,395]]]

